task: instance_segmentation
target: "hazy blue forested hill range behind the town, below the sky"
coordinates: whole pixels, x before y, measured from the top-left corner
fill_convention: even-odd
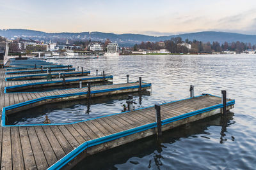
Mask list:
[[[147,36],[143,34],[114,34],[106,32],[60,32],[60,33],[47,33],[42,31],[34,31],[28,29],[0,29],[0,36],[4,36],[8,39],[15,38],[31,38],[37,41],[62,41],[65,42],[67,39],[72,41],[79,41],[85,39],[92,39],[94,41],[105,41],[110,39],[113,42],[118,43],[121,46],[132,46],[135,43],[141,43],[141,41],[164,41],[171,39],[173,37],[181,37],[184,39],[189,39],[193,41],[196,39],[198,41],[218,41],[228,43],[234,41],[241,41],[244,43],[252,43],[256,45],[256,35],[246,35],[246,34],[237,34],[231,32],[216,32],[216,31],[204,31],[204,32],[194,32],[188,34],[179,34],[173,36]]]

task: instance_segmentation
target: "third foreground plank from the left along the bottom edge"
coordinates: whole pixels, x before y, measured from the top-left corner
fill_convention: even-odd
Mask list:
[[[36,169],[35,158],[32,152],[26,127],[19,127],[19,133],[25,168]]]

